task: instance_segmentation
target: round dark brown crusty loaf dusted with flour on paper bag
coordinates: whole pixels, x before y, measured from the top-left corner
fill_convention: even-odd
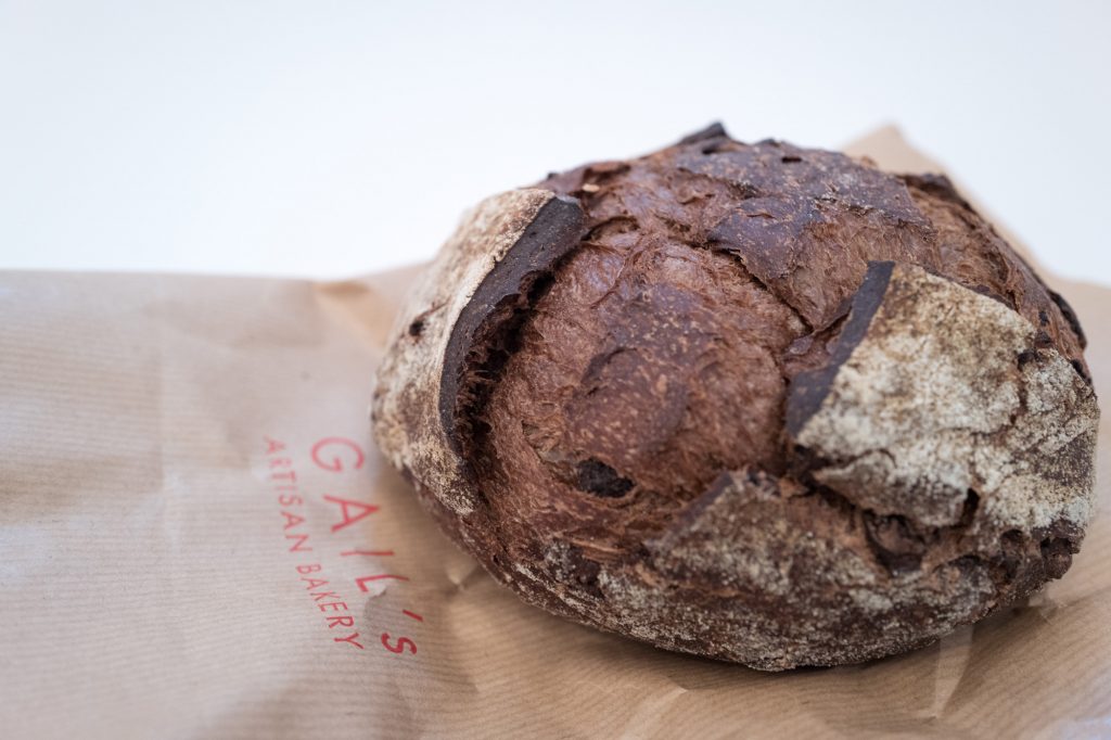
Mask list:
[[[714,126],[488,199],[396,333],[374,432],[443,530],[662,648],[909,650],[1090,516],[1077,318],[943,177]]]

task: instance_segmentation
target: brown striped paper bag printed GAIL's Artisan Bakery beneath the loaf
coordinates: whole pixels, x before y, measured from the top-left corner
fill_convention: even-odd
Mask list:
[[[935,169],[893,130],[852,150]],[[1111,734],[1108,517],[1029,606],[857,667],[759,673],[523,606],[370,439],[413,274],[0,276],[0,733]],[[1053,282],[1107,398],[1111,290]]]

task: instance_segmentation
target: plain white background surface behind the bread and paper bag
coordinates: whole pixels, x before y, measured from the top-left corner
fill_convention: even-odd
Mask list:
[[[347,277],[722,120],[898,123],[1111,283],[1111,3],[0,0],[0,268]]]

